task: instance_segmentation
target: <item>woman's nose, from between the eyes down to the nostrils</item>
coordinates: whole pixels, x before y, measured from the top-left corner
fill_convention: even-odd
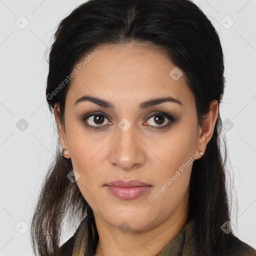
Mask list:
[[[110,162],[123,170],[131,170],[143,165],[146,158],[143,149],[146,146],[138,132],[132,125],[126,131],[116,127],[116,132],[111,140]]]

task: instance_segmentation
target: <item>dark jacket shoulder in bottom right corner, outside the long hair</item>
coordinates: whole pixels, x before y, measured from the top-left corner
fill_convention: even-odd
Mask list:
[[[233,234],[230,235],[228,245],[230,256],[256,256],[256,250],[254,248]]]

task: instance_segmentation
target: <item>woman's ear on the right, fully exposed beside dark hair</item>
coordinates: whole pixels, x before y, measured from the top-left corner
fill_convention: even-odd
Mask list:
[[[218,101],[213,99],[210,101],[209,113],[204,116],[202,127],[198,128],[198,136],[196,142],[196,148],[201,152],[204,152],[207,143],[212,137],[214,126],[218,117]]]

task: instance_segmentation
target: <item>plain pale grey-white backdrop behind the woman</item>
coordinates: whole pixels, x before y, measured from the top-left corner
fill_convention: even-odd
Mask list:
[[[82,2],[0,0],[0,255],[32,255],[28,228],[56,148],[44,53],[58,22]],[[235,235],[256,248],[256,1],[194,2],[216,28],[224,52],[220,116],[238,204],[231,223]]]

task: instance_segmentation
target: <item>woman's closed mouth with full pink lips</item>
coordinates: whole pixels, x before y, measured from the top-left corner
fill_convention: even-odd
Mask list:
[[[132,179],[128,181],[114,180],[105,184],[112,195],[123,200],[132,200],[146,193],[152,185],[140,180]]]

